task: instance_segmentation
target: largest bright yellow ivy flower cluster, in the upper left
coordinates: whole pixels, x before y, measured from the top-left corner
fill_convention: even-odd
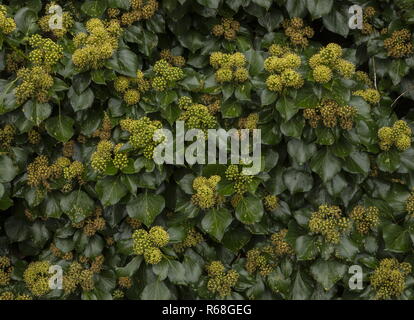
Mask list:
[[[77,48],[73,64],[82,70],[99,69],[118,49],[122,28],[117,20],[104,22],[93,18],[86,23],[88,33],[80,32],[73,38]]]

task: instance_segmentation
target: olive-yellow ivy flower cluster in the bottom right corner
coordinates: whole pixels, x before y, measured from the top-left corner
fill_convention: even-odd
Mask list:
[[[397,259],[385,258],[372,273],[370,280],[376,299],[399,297],[405,288],[405,280],[411,272],[411,264],[399,263]]]

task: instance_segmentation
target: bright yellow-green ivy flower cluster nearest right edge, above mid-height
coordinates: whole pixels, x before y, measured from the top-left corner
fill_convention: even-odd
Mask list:
[[[378,130],[379,145],[382,150],[389,150],[393,145],[399,151],[411,147],[411,128],[404,120],[398,120],[392,127],[382,127]]]

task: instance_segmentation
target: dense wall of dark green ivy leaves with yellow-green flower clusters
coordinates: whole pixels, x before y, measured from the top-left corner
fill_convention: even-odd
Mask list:
[[[413,16],[3,1],[0,299],[413,299]],[[154,132],[178,120],[261,129],[260,172],[156,164]]]

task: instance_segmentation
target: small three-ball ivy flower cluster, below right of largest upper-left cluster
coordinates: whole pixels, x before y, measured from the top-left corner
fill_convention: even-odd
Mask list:
[[[114,82],[115,90],[121,93],[123,100],[129,106],[137,104],[141,99],[141,94],[148,91],[150,82],[144,79],[142,71],[137,71],[136,78],[119,76]]]

